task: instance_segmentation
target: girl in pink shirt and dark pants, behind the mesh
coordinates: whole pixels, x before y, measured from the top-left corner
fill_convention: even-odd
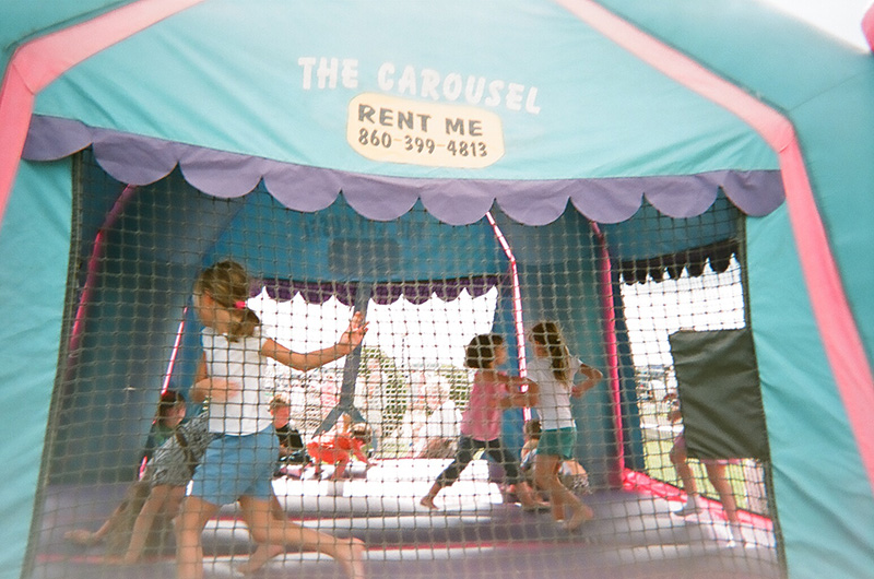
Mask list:
[[[476,369],[468,407],[461,417],[461,437],[454,460],[440,473],[428,494],[422,498],[423,507],[437,508],[434,499],[445,486],[458,481],[477,450],[484,449],[504,466],[507,483],[516,485],[516,494],[527,510],[546,507],[536,500],[531,487],[519,471],[519,461],[500,441],[504,411],[511,406],[533,406],[538,403],[538,385],[524,378],[511,377],[495,368],[507,362],[504,339],[495,334],[474,338],[465,351],[464,364]],[[522,392],[520,387],[528,386]]]

